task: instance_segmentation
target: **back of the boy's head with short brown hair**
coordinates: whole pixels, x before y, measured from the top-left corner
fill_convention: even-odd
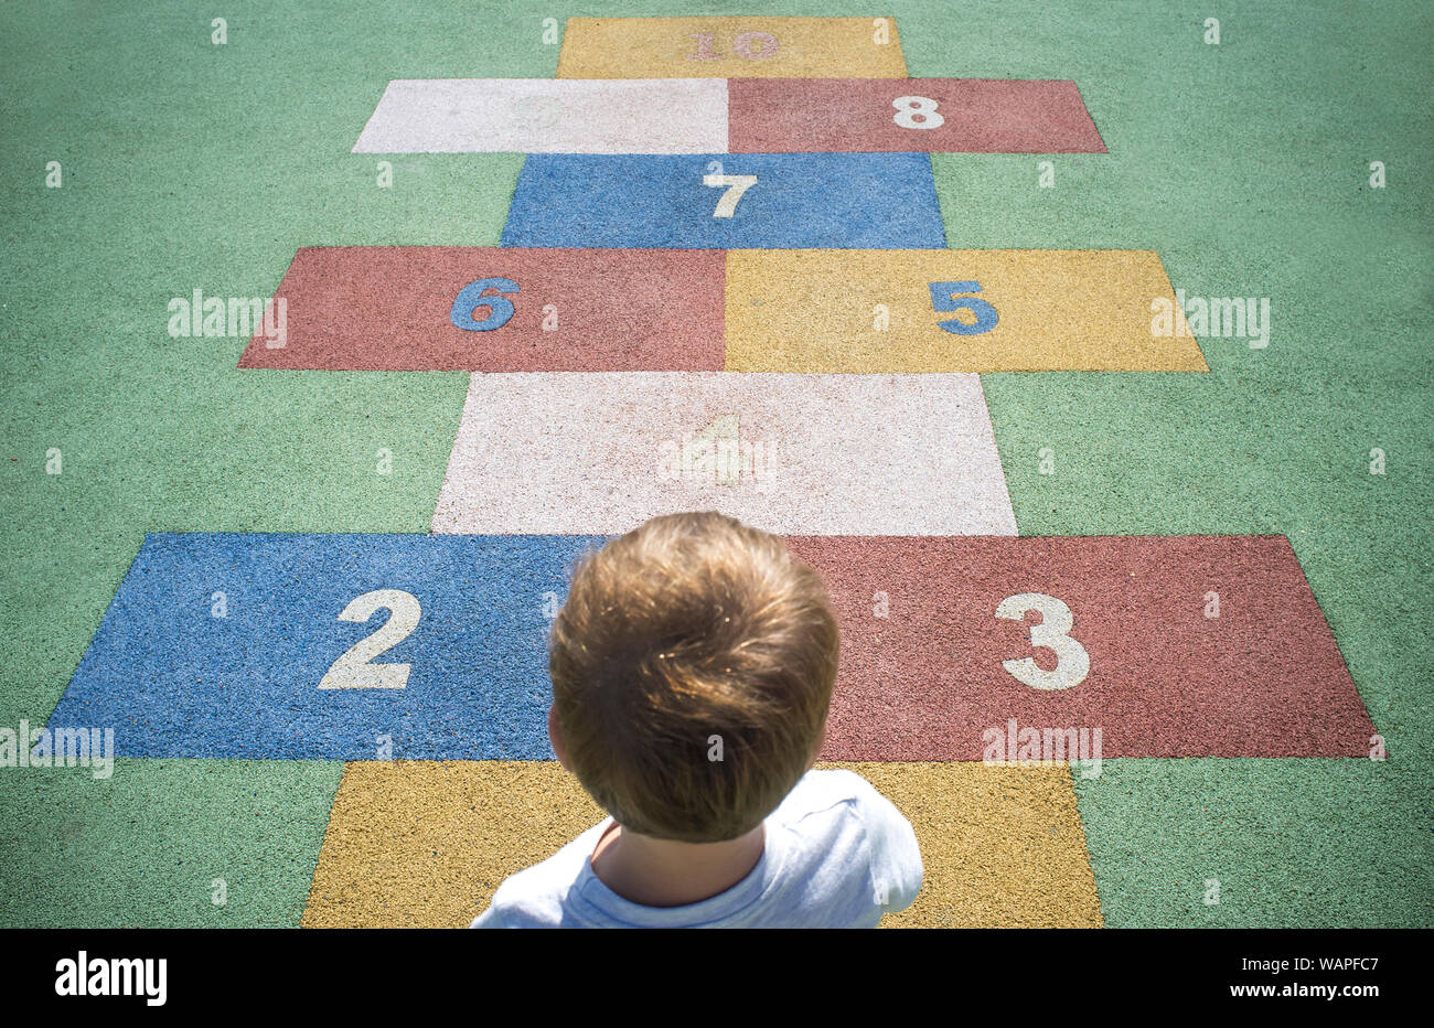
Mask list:
[[[782,539],[654,518],[582,561],[552,625],[566,764],[631,832],[743,836],[816,756],[837,649],[822,579]]]

